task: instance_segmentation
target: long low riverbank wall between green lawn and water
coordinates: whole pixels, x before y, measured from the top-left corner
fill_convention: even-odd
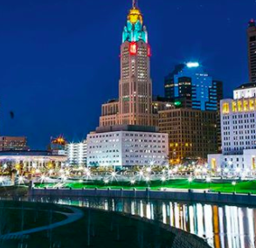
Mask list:
[[[256,206],[256,195],[139,189],[29,189],[29,196],[111,197]]]

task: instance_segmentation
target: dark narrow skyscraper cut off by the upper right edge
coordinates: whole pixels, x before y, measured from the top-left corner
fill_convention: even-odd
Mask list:
[[[252,19],[247,29],[249,79],[251,83],[256,82],[256,25]]]

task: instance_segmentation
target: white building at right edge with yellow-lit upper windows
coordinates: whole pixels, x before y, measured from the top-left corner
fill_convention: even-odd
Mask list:
[[[211,169],[232,176],[256,172],[256,85],[234,90],[233,100],[221,100],[222,155],[208,155]]]

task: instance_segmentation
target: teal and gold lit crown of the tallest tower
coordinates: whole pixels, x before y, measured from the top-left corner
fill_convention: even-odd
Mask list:
[[[142,12],[133,1],[133,7],[129,10],[127,25],[122,32],[122,42],[137,42],[139,40],[148,43],[148,32],[145,25],[143,25]]]

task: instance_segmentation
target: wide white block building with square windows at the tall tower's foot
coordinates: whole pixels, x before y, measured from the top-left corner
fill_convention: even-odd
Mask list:
[[[156,127],[98,127],[87,135],[87,166],[150,166],[168,164],[168,134]]]

